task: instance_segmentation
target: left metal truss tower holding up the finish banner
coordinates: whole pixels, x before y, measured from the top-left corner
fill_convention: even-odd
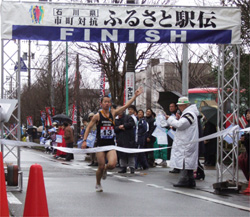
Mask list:
[[[1,138],[11,138],[16,141],[21,140],[20,46],[20,40],[2,40],[1,46],[1,99],[17,99],[18,101],[10,121],[1,123]],[[7,190],[22,191],[20,147],[1,144],[1,152],[3,160],[10,156],[11,163],[18,166],[18,185],[7,186]]]

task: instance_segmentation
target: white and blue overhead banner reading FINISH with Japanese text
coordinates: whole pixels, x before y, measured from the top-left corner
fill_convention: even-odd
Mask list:
[[[233,7],[2,2],[2,39],[240,44]]]

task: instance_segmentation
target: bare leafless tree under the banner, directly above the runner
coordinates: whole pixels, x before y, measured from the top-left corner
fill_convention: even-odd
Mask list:
[[[125,44],[121,43],[76,43],[81,49],[81,61],[90,70],[103,70],[106,74],[110,93],[115,104],[122,104],[126,75],[127,53]],[[146,61],[160,54],[160,46],[156,44],[136,44],[136,70],[146,65]],[[140,48],[139,48],[140,47]]]

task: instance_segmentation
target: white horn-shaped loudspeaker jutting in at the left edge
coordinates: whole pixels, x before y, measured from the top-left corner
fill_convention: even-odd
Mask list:
[[[17,104],[17,99],[0,99],[0,122],[8,122]]]

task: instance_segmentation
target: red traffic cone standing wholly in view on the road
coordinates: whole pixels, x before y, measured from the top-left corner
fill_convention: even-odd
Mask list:
[[[30,167],[23,216],[49,216],[43,169],[39,164]]]

